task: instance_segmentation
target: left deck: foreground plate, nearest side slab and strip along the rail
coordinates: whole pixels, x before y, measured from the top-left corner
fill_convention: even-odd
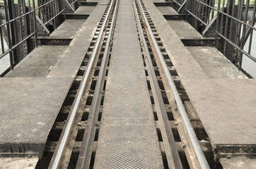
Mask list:
[[[69,46],[39,46],[0,79],[0,153],[42,156],[47,136],[106,7],[95,7],[81,29],[73,32]]]

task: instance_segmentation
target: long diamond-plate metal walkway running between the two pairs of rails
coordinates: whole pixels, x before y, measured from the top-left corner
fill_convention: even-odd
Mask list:
[[[163,168],[132,0],[120,0],[95,168]]]

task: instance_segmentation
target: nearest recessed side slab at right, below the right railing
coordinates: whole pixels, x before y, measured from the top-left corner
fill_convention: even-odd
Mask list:
[[[238,68],[215,47],[187,46],[187,49],[210,79],[248,78],[241,71],[238,71]]]

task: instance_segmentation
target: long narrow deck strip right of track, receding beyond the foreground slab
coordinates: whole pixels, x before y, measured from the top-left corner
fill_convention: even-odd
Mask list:
[[[159,37],[173,62],[175,69],[181,79],[202,79],[208,78],[202,67],[197,63],[190,52],[180,41],[172,27],[151,0],[144,0],[144,4],[153,20]]]

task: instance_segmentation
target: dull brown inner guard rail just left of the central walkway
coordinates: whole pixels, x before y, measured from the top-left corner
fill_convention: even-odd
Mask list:
[[[114,0],[113,0],[114,1]],[[119,1],[117,0],[115,2],[115,10],[112,15],[112,20],[111,20],[111,25],[110,25],[110,31],[108,33],[107,37],[107,42],[105,46],[105,51],[103,54],[103,60],[100,65],[100,72],[98,75],[98,80],[95,85],[95,92],[93,94],[93,101],[91,104],[91,109],[90,113],[88,115],[88,120],[87,120],[87,125],[86,125],[86,130],[83,134],[83,141],[82,141],[82,146],[81,146],[81,152],[78,156],[78,161],[76,164],[76,169],[83,169],[83,168],[89,168],[90,167],[90,161],[91,161],[91,152],[93,149],[92,143],[94,142],[94,136],[95,132],[95,125],[97,124],[97,119],[98,119],[98,111],[99,111],[99,104],[101,101],[100,94],[103,89],[103,83],[105,81],[104,75],[105,75],[105,67],[107,65],[107,58],[108,54],[110,53],[110,43],[112,39],[112,33],[114,30],[114,25],[115,25],[115,20],[117,16],[117,6],[118,6]]]

